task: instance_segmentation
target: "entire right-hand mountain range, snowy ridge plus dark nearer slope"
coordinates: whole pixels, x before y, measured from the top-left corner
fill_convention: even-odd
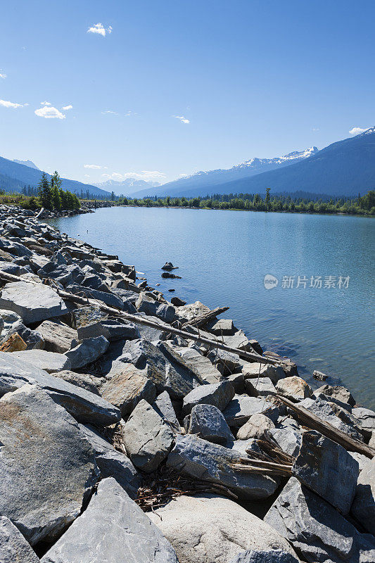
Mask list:
[[[252,158],[229,170],[198,172],[132,197],[196,197],[208,194],[265,194],[295,191],[356,196],[375,188],[375,127],[350,139],[277,158]]]

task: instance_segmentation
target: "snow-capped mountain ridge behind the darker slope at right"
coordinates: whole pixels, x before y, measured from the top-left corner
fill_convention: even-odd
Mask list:
[[[146,189],[133,190],[129,195],[136,197],[144,196],[205,196],[212,191],[220,191],[220,185],[232,182],[238,179],[251,177],[255,174],[268,172],[275,168],[284,167],[297,163],[300,160],[310,158],[316,154],[319,149],[316,146],[306,148],[304,151],[293,151],[284,156],[275,158],[250,158],[243,163],[232,166],[229,169],[218,169],[196,172],[190,176],[185,176],[174,182],[168,182],[158,189],[150,189],[153,186],[147,186]],[[108,188],[106,188],[108,189]]]

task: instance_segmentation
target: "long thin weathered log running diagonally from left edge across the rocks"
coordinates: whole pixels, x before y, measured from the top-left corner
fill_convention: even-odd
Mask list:
[[[31,281],[29,279],[23,279],[18,276],[14,276],[13,274],[6,274],[5,272],[0,272],[0,279],[4,279],[5,281],[27,281],[28,283],[35,284],[36,282]],[[260,356],[255,353],[245,352],[244,350],[239,350],[239,348],[231,348],[231,346],[226,346],[220,340],[212,340],[206,339],[204,336],[191,334],[190,332],[186,332],[184,330],[175,329],[171,327],[170,324],[165,324],[162,322],[155,322],[148,320],[146,317],[141,317],[141,315],[131,315],[130,313],[121,311],[119,309],[115,309],[113,307],[108,307],[108,305],[104,305],[96,301],[96,299],[91,299],[88,297],[80,297],[77,295],[73,295],[72,293],[67,293],[66,291],[62,291],[61,289],[56,289],[53,287],[56,293],[62,298],[66,299],[67,301],[72,301],[73,303],[77,303],[77,305],[94,305],[98,307],[103,312],[106,312],[108,315],[112,315],[115,317],[121,317],[122,319],[128,320],[130,322],[134,322],[135,324],[144,324],[146,327],[152,327],[153,329],[158,329],[170,334],[177,334],[177,336],[182,336],[184,339],[190,339],[196,342],[201,342],[210,346],[210,348],[220,348],[221,350],[226,350],[227,352],[231,352],[241,356],[244,360],[249,360],[250,362],[259,362],[260,364],[271,364],[276,365],[277,361],[272,360],[271,358],[265,358],[264,356]],[[89,290],[88,290],[89,291]]]

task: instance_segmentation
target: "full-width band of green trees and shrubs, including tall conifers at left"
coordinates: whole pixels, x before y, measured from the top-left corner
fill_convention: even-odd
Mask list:
[[[20,193],[9,193],[0,186],[0,203],[19,205],[24,209],[37,210],[44,208],[49,211],[79,210],[109,205],[130,205],[134,207],[167,207],[190,209],[215,209],[233,211],[266,211],[274,213],[322,213],[330,215],[375,215],[375,190],[369,190],[364,196],[324,196],[322,194],[272,194],[267,188],[264,196],[260,194],[212,194],[205,197],[158,196],[148,198],[131,198],[116,196],[112,192],[106,198],[95,198],[87,191],[77,196],[70,191],[61,189],[61,178],[54,172],[49,181],[42,173],[39,186],[23,186]]]

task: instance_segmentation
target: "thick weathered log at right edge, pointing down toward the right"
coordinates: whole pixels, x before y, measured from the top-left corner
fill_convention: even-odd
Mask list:
[[[342,445],[345,450],[362,453],[370,459],[375,456],[374,448],[370,448],[369,445],[355,440],[355,438],[351,438],[342,430],[338,430],[332,426],[332,424],[329,424],[329,422],[314,415],[310,410],[307,410],[307,408],[299,406],[298,403],[292,403],[291,400],[281,397],[281,395],[277,395],[277,398],[281,400],[284,405],[293,410],[303,424],[312,430],[317,430],[320,434],[323,434],[323,436],[326,436],[326,438],[329,438],[333,442]]]

